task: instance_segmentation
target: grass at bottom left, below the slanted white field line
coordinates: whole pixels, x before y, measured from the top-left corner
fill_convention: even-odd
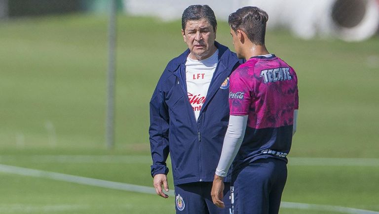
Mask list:
[[[164,213],[173,210],[173,203],[161,203],[155,195],[12,175],[1,175],[1,179],[7,183],[1,188],[0,213],[4,214],[146,214],[153,209]],[[20,183],[29,185],[20,188]],[[21,209],[15,209],[17,205]],[[54,210],[55,206],[66,209]]]

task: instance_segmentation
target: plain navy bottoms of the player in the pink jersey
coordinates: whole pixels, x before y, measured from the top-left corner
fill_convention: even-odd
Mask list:
[[[259,159],[238,172],[233,182],[233,214],[278,214],[287,163]]]

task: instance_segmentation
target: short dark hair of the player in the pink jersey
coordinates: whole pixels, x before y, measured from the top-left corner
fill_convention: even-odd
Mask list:
[[[252,43],[265,44],[267,13],[253,6],[242,7],[229,15],[229,26],[235,32],[242,30]]]

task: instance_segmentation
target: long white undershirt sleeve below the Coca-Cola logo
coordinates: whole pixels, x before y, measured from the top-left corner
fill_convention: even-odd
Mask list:
[[[247,115],[230,115],[227,133],[224,138],[223,150],[221,152],[219,165],[216,169],[217,175],[223,177],[227,176],[227,171],[241,147],[245,135],[247,118]]]

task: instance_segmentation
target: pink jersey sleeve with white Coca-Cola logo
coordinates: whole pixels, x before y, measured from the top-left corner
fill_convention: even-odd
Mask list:
[[[252,90],[248,81],[248,74],[243,69],[236,69],[230,76],[230,115],[243,116],[249,114]]]

